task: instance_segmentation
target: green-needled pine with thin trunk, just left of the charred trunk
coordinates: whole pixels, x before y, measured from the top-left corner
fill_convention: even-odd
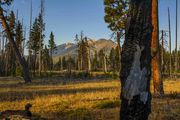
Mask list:
[[[121,53],[120,39],[123,36],[125,29],[125,22],[127,19],[128,12],[128,1],[127,0],[104,0],[104,20],[108,24],[108,28],[116,33],[116,39],[119,49],[119,58]],[[119,59],[120,62],[120,59]],[[120,71],[120,64],[119,64]]]

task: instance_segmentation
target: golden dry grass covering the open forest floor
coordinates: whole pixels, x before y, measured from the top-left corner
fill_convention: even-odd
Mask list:
[[[180,80],[164,81],[165,96],[152,99],[150,120],[180,120]],[[118,80],[0,80],[0,111],[32,104],[33,118],[119,120]],[[39,118],[37,118],[39,117]],[[32,120],[33,120],[32,118]]]

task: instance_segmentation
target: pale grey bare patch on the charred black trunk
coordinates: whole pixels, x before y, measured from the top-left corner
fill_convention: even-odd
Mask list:
[[[140,95],[140,100],[146,104],[148,99],[146,75],[148,71],[146,67],[141,70],[140,63],[141,52],[144,50],[144,47],[140,48],[139,45],[136,45],[136,49],[130,74],[123,87],[123,97],[126,98],[130,104],[134,96]]]

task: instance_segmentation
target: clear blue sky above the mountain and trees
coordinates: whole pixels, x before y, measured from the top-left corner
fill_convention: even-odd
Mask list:
[[[11,9],[14,11],[18,9],[19,19],[23,18],[27,28],[29,28],[30,1],[14,0],[11,5]],[[40,11],[40,0],[32,1],[34,18]],[[180,0],[178,1],[180,14]],[[168,30],[168,7],[171,12],[172,45],[174,46],[175,0],[159,0],[159,26],[160,30]],[[92,39],[109,39],[111,35],[111,31],[104,22],[103,0],[45,0],[45,22],[45,43],[47,43],[51,31],[54,32],[56,44],[58,45],[65,42],[74,42],[75,34],[79,34],[82,30],[86,36]],[[178,28],[179,25],[180,23],[178,23]],[[180,30],[178,35],[180,35]]]

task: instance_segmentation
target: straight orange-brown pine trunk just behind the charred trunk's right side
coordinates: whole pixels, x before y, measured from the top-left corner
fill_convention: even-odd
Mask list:
[[[159,47],[159,24],[158,24],[158,0],[152,0],[152,78],[154,85],[154,95],[164,94],[163,81],[160,66],[160,47]]]

